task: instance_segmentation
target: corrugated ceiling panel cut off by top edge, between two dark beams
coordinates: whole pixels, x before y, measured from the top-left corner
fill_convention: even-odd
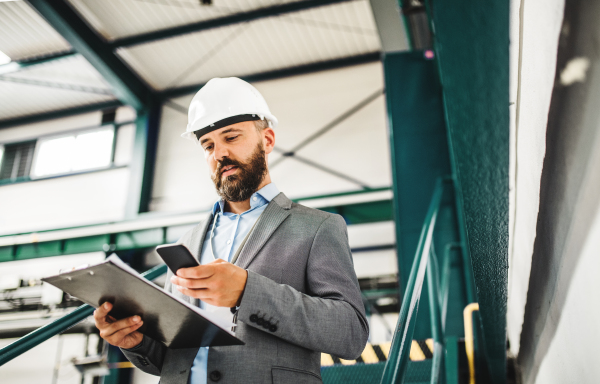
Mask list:
[[[108,40],[248,12],[299,0],[69,0]]]

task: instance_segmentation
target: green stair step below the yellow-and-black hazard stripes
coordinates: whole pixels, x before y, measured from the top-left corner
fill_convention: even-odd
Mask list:
[[[336,364],[321,368],[323,384],[373,384],[379,383],[385,362],[376,364]],[[428,384],[431,378],[431,359],[409,361],[405,383]]]

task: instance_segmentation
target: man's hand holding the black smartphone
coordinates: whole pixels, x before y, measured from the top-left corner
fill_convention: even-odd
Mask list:
[[[191,268],[181,268],[171,283],[184,295],[195,297],[216,307],[239,305],[248,272],[224,260]]]

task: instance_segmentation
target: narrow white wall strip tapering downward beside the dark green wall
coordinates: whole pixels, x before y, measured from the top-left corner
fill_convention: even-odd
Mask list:
[[[539,208],[546,126],[564,0],[512,0],[510,15],[510,243],[507,331],[516,356]]]

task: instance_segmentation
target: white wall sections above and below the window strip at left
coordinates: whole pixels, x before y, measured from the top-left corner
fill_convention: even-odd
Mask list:
[[[102,114],[87,113],[0,130],[0,144],[99,126]],[[135,119],[128,107],[117,122]],[[115,160],[125,165],[133,141],[119,129]],[[129,184],[127,168],[0,185],[0,235],[96,224],[123,219]]]

